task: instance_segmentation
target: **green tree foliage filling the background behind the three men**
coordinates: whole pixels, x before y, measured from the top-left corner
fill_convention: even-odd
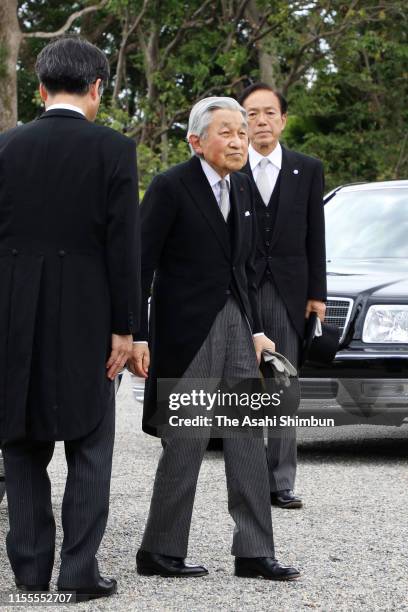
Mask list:
[[[55,31],[87,1],[20,0],[25,30]],[[71,31],[107,54],[112,85],[98,121],[138,143],[141,188],[188,158],[186,122],[203,95],[237,95],[261,76],[267,53],[289,101],[285,143],[323,160],[327,187],[408,176],[408,9],[405,0],[150,0],[127,38],[119,96],[118,50],[142,0],[110,0]],[[18,72],[19,118],[38,112],[35,57],[47,41],[26,40]],[[3,60],[4,63],[4,60]],[[0,49],[0,80],[2,50]],[[241,77],[246,75],[243,83]]]

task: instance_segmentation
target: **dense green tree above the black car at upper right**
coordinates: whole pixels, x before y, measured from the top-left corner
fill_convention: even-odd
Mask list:
[[[367,12],[291,90],[290,146],[325,161],[328,187],[408,174],[407,14]],[[364,19],[361,19],[361,18]]]

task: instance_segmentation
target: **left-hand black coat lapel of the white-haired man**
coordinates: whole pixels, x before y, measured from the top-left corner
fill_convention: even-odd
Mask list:
[[[216,235],[228,259],[231,257],[228,226],[221,214],[211,185],[205,176],[198,157],[189,161],[189,173],[181,180],[188,189],[191,199],[205,217]]]

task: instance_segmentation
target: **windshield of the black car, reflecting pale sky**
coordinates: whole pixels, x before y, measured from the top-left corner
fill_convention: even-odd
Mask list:
[[[340,191],[325,206],[334,258],[408,258],[408,188]]]

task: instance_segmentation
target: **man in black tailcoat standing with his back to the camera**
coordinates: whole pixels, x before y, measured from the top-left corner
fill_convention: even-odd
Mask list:
[[[55,521],[47,465],[64,440],[60,590],[111,595],[99,574],[114,439],[114,379],[140,302],[134,142],[93,120],[105,55],[66,37],[37,64],[46,112],[0,135],[0,438],[16,584],[48,590]]]

